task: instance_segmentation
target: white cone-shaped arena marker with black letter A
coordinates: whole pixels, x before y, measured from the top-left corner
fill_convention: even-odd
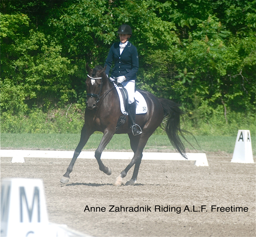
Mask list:
[[[250,130],[238,130],[237,140],[231,162],[254,163]]]

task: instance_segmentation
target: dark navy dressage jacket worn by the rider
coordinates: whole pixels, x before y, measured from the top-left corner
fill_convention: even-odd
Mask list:
[[[137,48],[128,42],[120,55],[119,44],[119,42],[114,43],[109,50],[105,61],[105,65],[107,65],[105,73],[109,75],[110,68],[114,62],[114,68],[111,72],[112,77],[125,76],[126,81],[136,80],[136,73],[139,69]]]

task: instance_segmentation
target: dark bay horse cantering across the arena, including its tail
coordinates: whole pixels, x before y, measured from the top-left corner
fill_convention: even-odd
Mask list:
[[[158,99],[149,92],[139,90],[144,96],[148,111],[146,114],[136,115],[136,123],[141,127],[142,133],[138,136],[133,136],[132,129],[128,126],[128,116],[126,115],[126,122],[116,130],[117,122],[122,116],[120,110],[120,101],[117,90],[114,88],[112,82],[105,74],[105,68],[100,66],[91,69],[88,64],[86,65],[88,76],[86,79],[87,85],[87,107],[84,114],[84,125],[81,131],[81,137],[77,148],[75,149],[74,156],[67,172],[61,178],[60,182],[68,183],[69,174],[72,172],[75,160],[79,156],[83,147],[87,143],[91,134],[95,131],[103,133],[102,140],[95,151],[95,158],[98,161],[99,169],[105,174],[110,175],[111,169],[102,163],[101,155],[106,145],[109,143],[115,133],[128,133],[130,144],[134,156],[128,166],[116,178],[113,185],[120,186],[122,178],[132,168],[134,171],[132,179],[127,181],[125,185],[134,185],[136,183],[139,166],[142,159],[142,152],[147,144],[149,137],[154,131],[161,126],[162,121],[165,121],[164,130],[169,137],[170,142],[177,149],[177,151],[186,158],[184,144],[180,136],[184,137],[180,129],[180,117],[183,114],[178,104],[167,99]]]

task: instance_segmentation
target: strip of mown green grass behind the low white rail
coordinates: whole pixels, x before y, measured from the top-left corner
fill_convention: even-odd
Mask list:
[[[190,150],[202,151],[202,152],[228,152],[233,153],[236,143],[236,136],[195,136],[198,144],[192,137],[187,137],[188,141],[192,143],[194,148],[188,146]],[[13,149],[56,149],[56,150],[75,150],[79,143],[80,134],[68,134],[68,133],[2,133],[1,134],[1,149],[13,148]],[[83,150],[96,149],[102,134],[93,134]],[[256,153],[256,137],[252,137],[252,150],[253,154]],[[145,147],[147,149],[162,149],[171,148],[173,146],[169,142],[166,135],[152,135]],[[107,145],[106,149],[114,150],[129,150],[130,142],[127,134],[116,134]]]

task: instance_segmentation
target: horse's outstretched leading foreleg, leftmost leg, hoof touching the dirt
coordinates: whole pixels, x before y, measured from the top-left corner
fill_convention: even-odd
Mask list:
[[[68,169],[67,169],[67,172],[63,175],[63,177],[60,179],[60,182],[61,183],[68,183],[69,181],[69,174],[72,172],[73,170],[73,167],[74,167],[74,164],[75,164],[75,161],[77,159],[77,157],[79,156],[80,152],[82,151],[83,147],[85,146],[85,144],[87,143],[90,135],[92,133],[88,132],[88,130],[86,129],[85,125],[83,126],[82,128],[82,131],[81,131],[81,137],[80,137],[80,141],[79,141],[79,144],[77,145],[77,147],[75,148],[75,152],[74,152],[74,155],[73,155],[73,158],[68,166]]]

